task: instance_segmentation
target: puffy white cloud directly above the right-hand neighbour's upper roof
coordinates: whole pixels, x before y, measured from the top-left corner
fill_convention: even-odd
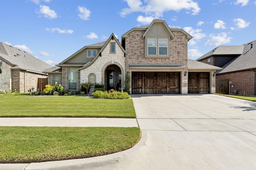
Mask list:
[[[214,34],[210,35],[211,39],[208,39],[208,41],[204,45],[215,45],[219,46],[222,44],[230,43],[231,37],[228,37],[226,33],[220,33],[217,36]]]

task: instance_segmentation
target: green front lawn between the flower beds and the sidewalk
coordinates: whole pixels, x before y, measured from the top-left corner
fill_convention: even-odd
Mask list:
[[[9,94],[0,96],[0,106],[0,117],[136,117],[132,99]]]

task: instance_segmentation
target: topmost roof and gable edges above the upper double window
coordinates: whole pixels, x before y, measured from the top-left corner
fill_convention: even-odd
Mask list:
[[[122,35],[122,39],[125,37],[128,37],[128,34],[131,33],[134,30],[142,30],[145,31],[145,33],[143,34],[143,37],[146,35],[147,31],[150,30],[150,27],[154,24],[154,23],[163,23],[167,28],[168,31],[170,32],[171,37],[174,37],[174,34],[172,33],[172,31],[180,31],[182,32],[184,35],[186,35],[186,38],[188,40],[192,39],[193,37],[191,35],[189,35],[186,31],[184,31],[183,29],[178,29],[178,28],[173,28],[173,27],[169,27],[166,22],[164,20],[159,20],[159,19],[155,19],[153,20],[150,25],[146,25],[146,26],[142,26],[142,27],[136,27],[136,28],[132,28],[129,31],[127,31],[124,35]]]

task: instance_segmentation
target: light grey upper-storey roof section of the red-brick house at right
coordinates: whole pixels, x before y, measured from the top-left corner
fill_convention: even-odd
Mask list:
[[[243,45],[218,46],[215,49],[203,55],[202,57],[196,59],[196,61],[201,61],[214,55],[241,55],[243,53],[243,50]]]

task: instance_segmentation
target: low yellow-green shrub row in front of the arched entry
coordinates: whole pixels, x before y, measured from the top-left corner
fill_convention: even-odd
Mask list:
[[[117,91],[109,91],[109,92],[102,92],[100,90],[93,92],[92,96],[94,98],[101,98],[101,99],[128,99],[131,96],[127,92],[117,92]]]

